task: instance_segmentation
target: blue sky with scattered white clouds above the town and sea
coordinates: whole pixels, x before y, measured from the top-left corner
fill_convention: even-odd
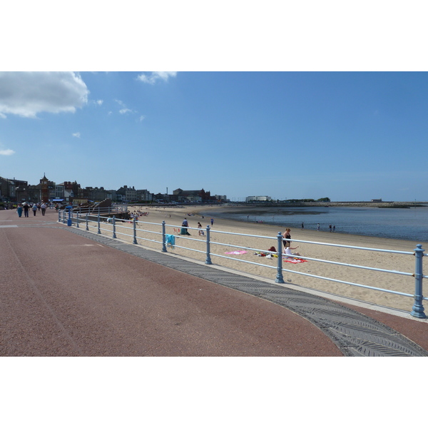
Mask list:
[[[427,112],[420,72],[5,72],[0,175],[428,200]]]

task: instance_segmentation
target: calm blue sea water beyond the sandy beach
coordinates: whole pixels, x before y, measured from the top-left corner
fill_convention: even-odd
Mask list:
[[[428,207],[371,208],[371,207],[305,207],[305,208],[255,208],[245,213],[233,210],[220,213],[206,210],[203,215],[233,220],[263,221],[281,228],[301,228],[328,231],[336,226],[337,233],[377,236],[428,243]],[[281,229],[282,230],[282,229]]]

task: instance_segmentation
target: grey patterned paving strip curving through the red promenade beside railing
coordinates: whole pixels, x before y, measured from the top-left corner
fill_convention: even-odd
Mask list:
[[[146,250],[139,245],[123,243],[86,230],[68,228],[85,238],[111,248],[136,255],[153,263],[170,267],[180,272],[200,277],[210,282],[246,292],[297,313],[335,342],[342,354],[349,357],[427,357],[428,352],[387,325],[367,315],[332,302],[324,297],[292,290],[286,286],[244,277],[238,273],[225,272],[208,265],[171,257],[165,253]]]

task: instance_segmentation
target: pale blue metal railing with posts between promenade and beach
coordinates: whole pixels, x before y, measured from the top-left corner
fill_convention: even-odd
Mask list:
[[[366,288],[366,289],[370,289],[370,290],[376,290],[379,292],[387,292],[387,293],[391,293],[394,295],[399,295],[399,296],[404,296],[404,297],[412,297],[414,299],[414,303],[413,303],[412,311],[410,312],[410,314],[413,317],[417,317],[417,318],[426,318],[427,317],[424,313],[424,307],[423,307],[422,303],[423,303],[423,300],[428,300],[428,297],[424,297],[422,294],[422,281],[424,278],[427,278],[428,276],[423,275],[422,259],[424,256],[426,256],[428,254],[424,253],[424,250],[422,249],[421,244],[417,245],[417,248],[414,249],[414,252],[409,252],[409,251],[398,251],[398,250],[384,250],[384,249],[379,249],[379,248],[355,247],[352,245],[320,243],[320,242],[313,242],[313,241],[306,241],[306,240],[293,240],[293,242],[297,242],[297,243],[326,245],[326,246],[332,246],[332,247],[350,248],[353,250],[375,251],[375,252],[381,252],[381,253],[396,253],[396,254],[402,254],[402,255],[413,255],[414,256],[414,272],[401,272],[398,270],[387,270],[387,269],[380,269],[378,267],[353,265],[350,263],[342,263],[342,262],[337,262],[337,261],[332,261],[332,260],[322,260],[319,258],[310,258],[310,257],[303,257],[300,255],[292,255],[292,258],[295,258],[295,259],[314,260],[316,262],[330,263],[332,265],[338,265],[338,266],[342,266],[342,267],[355,267],[357,269],[372,270],[372,271],[377,271],[377,272],[386,272],[386,273],[391,273],[391,274],[395,274],[395,275],[404,275],[404,276],[408,276],[408,277],[409,276],[414,277],[414,280],[415,280],[414,294],[409,294],[406,292],[399,292],[396,290],[389,290],[386,288],[373,287],[370,285],[359,284],[356,282],[348,282],[348,281],[344,281],[344,280],[337,280],[337,279],[330,278],[330,277],[313,275],[313,274],[310,274],[307,272],[299,272],[297,270],[285,269],[284,267],[282,267],[282,257],[286,258],[285,255],[282,255],[282,240],[285,240],[285,238],[282,237],[281,233],[278,233],[277,236],[272,237],[272,236],[260,236],[260,235],[247,235],[247,234],[243,234],[243,233],[231,233],[231,232],[224,232],[221,230],[213,231],[210,229],[210,226],[207,226],[205,229],[183,228],[183,226],[178,226],[178,225],[167,225],[165,223],[165,221],[163,221],[163,223],[149,223],[149,222],[143,222],[143,221],[136,221],[135,218],[133,220],[123,220],[123,219],[118,220],[118,219],[116,219],[116,216],[114,216],[114,215],[113,215],[113,217],[102,216],[101,210],[99,213],[96,213],[96,215],[93,215],[93,214],[91,215],[89,213],[79,215],[78,211],[77,212],[67,212],[66,210],[63,210],[63,211],[60,210],[60,211],[58,211],[58,221],[62,222],[62,223],[67,223],[69,226],[76,225],[77,228],[81,227],[81,224],[84,223],[86,226],[86,230],[91,231],[91,229],[96,229],[96,233],[98,233],[98,234],[101,234],[101,230],[103,230],[103,232],[111,234],[111,238],[117,238],[118,235],[128,236],[128,237],[132,238],[133,244],[138,244],[138,240],[150,241],[152,243],[158,243],[158,244],[160,244],[161,251],[163,253],[168,252],[168,250],[167,250],[168,246],[171,248],[182,248],[183,250],[190,250],[190,251],[193,251],[196,253],[203,253],[203,254],[205,254],[205,264],[207,264],[207,265],[212,265],[213,263],[212,263],[211,258],[217,257],[217,258],[224,258],[224,259],[239,261],[241,263],[248,263],[251,265],[258,265],[261,267],[268,267],[270,269],[275,268],[275,270],[276,270],[275,282],[280,283],[280,284],[284,283],[284,278],[283,278],[282,272],[292,272],[292,273],[295,273],[297,275],[305,275],[307,277],[313,277],[313,278],[317,278],[317,279],[321,279],[321,280],[328,280],[328,281],[332,281],[332,282],[340,282],[342,284],[352,285],[354,287],[362,287],[362,288]],[[111,211],[109,211],[108,214],[111,214]],[[62,215],[62,220],[61,220],[61,215]],[[123,223],[132,224],[132,227],[123,225]],[[106,225],[108,225],[108,228],[105,227]],[[158,230],[146,230],[146,229],[141,230],[141,229],[137,229],[137,225],[139,225],[139,226],[140,225],[155,225],[155,226],[159,226],[159,228],[158,228]],[[193,241],[201,243],[201,240],[195,239],[195,238],[189,238],[187,235],[181,235],[180,234],[178,236],[175,236],[175,235],[167,234],[165,232],[166,227],[173,228],[173,231],[175,234],[180,234],[183,229],[184,230],[202,231],[203,238],[205,238],[204,250],[200,250],[200,249],[195,248],[195,247],[192,248],[192,247],[186,247],[183,245],[175,244],[175,238],[178,238],[178,237],[180,238],[180,240],[184,240],[185,242],[189,242],[190,243],[189,245],[191,245],[191,243]],[[118,230],[117,230],[118,228],[121,231],[118,232]],[[158,239],[156,239],[156,236],[154,236],[153,239],[144,238],[143,236],[138,235],[138,232],[157,235]],[[273,251],[269,251],[269,250],[260,250],[258,248],[243,247],[241,245],[232,245],[230,243],[217,242],[217,241],[214,241],[211,239],[211,233],[215,233],[215,234],[219,234],[219,235],[240,235],[240,236],[245,236],[245,237],[250,237],[250,238],[263,238],[263,239],[267,239],[267,240],[274,240],[276,245],[277,245],[278,250],[276,252],[273,252]],[[171,238],[171,237],[173,237],[173,238]],[[263,252],[265,254],[270,254],[270,255],[277,258],[277,264],[276,264],[276,266],[272,266],[272,265],[266,265],[263,263],[251,262],[249,260],[243,260],[243,259],[238,259],[238,258],[230,258],[227,255],[213,253],[213,251],[211,250],[211,245],[218,245],[220,247],[225,246],[228,248],[240,248],[241,250],[250,250],[250,251]]]

